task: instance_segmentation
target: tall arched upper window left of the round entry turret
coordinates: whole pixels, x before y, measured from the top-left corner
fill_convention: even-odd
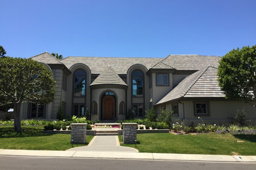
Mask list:
[[[85,96],[85,81],[86,81],[85,71],[81,69],[75,71],[75,74],[74,74],[74,96],[75,97]]]

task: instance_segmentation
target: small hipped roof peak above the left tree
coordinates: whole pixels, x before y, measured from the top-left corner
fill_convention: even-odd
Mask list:
[[[43,52],[42,54],[33,56],[32,59],[41,63],[62,64],[58,59],[54,58],[54,56],[48,52]]]

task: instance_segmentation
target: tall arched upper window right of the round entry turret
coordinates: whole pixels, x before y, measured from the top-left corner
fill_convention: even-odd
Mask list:
[[[133,71],[131,74],[132,80],[132,92],[133,96],[142,97],[143,96],[143,86],[144,86],[144,74],[140,70]]]

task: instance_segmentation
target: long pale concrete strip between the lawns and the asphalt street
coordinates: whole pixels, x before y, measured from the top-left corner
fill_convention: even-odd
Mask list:
[[[228,156],[206,154],[159,154],[136,152],[90,152],[58,150],[9,150],[1,149],[0,156],[39,156],[64,158],[108,158],[133,160],[176,160],[176,161],[221,161],[221,162],[254,162],[256,156]]]

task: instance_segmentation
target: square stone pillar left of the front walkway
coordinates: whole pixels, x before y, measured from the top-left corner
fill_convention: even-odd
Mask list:
[[[73,143],[85,144],[86,142],[86,127],[87,124],[70,124],[71,126],[71,140]]]

